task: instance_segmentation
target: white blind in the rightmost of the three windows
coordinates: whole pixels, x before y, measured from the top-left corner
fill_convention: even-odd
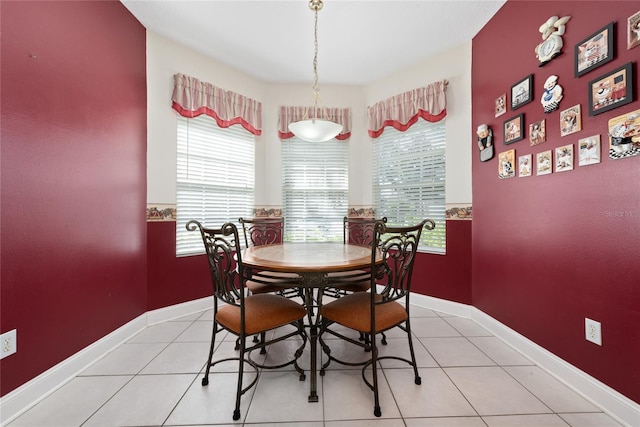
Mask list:
[[[445,253],[445,120],[419,119],[406,132],[387,127],[373,142],[376,216],[390,224],[415,225],[428,218],[420,250]]]

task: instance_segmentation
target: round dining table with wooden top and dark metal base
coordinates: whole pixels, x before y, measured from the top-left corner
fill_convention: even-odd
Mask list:
[[[322,305],[324,289],[335,282],[332,277],[348,277],[349,272],[367,270],[371,266],[371,247],[342,242],[285,242],[251,246],[242,251],[242,264],[252,278],[270,273],[295,273],[295,283],[302,288],[307,308],[309,343],[311,346],[309,402],[318,401],[317,343],[319,316],[313,308]],[[380,253],[376,263],[381,262]],[[333,273],[333,274],[332,274]],[[341,273],[337,276],[335,273]],[[355,274],[355,273],[354,273]],[[294,276],[296,277],[296,276]],[[291,281],[287,281],[291,285]],[[314,296],[314,290],[317,290]]]

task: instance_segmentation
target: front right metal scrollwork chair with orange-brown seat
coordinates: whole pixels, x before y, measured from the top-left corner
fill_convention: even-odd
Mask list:
[[[433,230],[434,227],[435,223],[432,220],[424,220],[418,225],[409,227],[392,227],[382,221],[376,222],[371,251],[370,291],[346,295],[323,305],[320,309],[322,323],[319,340],[323,351],[328,356],[327,362],[320,370],[320,375],[325,374],[326,368],[332,361],[350,366],[362,365],[362,378],[374,394],[373,413],[376,417],[382,415],[378,397],[378,363],[380,360],[396,359],[408,363],[413,367],[415,383],[422,382],[418,375],[413,350],[409,296],[411,294],[411,275],[422,229]],[[381,263],[376,262],[378,250],[382,256]],[[362,342],[349,338],[332,329],[332,325],[336,324],[359,331],[369,339]],[[407,334],[410,360],[393,355],[378,357],[376,334],[395,327],[402,329]],[[371,353],[369,359],[361,362],[337,359],[331,355],[331,349],[323,340],[325,334],[331,334],[364,347]],[[365,375],[368,368],[371,368],[371,381]]]

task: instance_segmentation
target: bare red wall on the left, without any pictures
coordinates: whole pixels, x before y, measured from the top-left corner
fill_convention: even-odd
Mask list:
[[[5,395],[146,311],[146,71],[118,1],[0,7]]]

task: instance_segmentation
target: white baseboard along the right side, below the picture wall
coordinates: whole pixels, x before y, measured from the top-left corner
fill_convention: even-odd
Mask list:
[[[476,307],[417,294],[411,295],[411,303],[475,321],[616,421],[630,427],[640,426],[640,405]]]

